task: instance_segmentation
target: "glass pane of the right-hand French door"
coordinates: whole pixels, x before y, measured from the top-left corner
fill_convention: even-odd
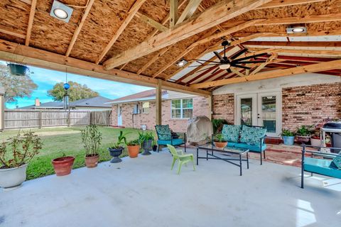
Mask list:
[[[261,118],[268,133],[276,133],[276,96],[261,97]]]

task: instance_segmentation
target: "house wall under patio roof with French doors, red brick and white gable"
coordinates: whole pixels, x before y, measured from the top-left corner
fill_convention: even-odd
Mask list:
[[[341,77],[306,73],[229,84],[213,91],[212,118],[266,126],[268,136],[296,131],[325,118],[341,118]]]

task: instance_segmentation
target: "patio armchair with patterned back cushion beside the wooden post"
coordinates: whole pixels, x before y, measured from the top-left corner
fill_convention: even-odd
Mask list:
[[[161,145],[185,145],[185,152],[186,152],[186,133],[175,133],[177,136],[175,138],[172,135],[171,128],[168,125],[156,125],[156,134],[158,135],[158,152],[160,151]]]

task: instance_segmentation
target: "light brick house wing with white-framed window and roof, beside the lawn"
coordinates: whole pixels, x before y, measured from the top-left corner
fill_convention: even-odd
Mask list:
[[[139,92],[109,101],[112,104],[112,125],[126,128],[154,129],[156,89]],[[210,116],[208,99],[179,92],[162,91],[162,123],[173,131],[187,131],[192,116]]]

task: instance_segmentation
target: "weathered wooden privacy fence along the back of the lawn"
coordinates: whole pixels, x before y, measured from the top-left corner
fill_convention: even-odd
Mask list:
[[[111,111],[82,110],[5,110],[5,129],[85,126],[90,123],[109,126]]]

